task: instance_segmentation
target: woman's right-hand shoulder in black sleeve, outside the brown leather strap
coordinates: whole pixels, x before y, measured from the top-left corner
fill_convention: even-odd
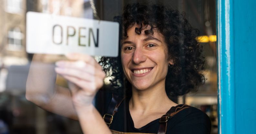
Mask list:
[[[176,108],[178,108],[178,106],[176,106]],[[195,107],[188,106],[184,109],[177,109],[176,112],[177,113],[172,117],[172,122],[168,122],[167,131],[187,134],[210,133],[211,121],[208,115],[203,111]]]

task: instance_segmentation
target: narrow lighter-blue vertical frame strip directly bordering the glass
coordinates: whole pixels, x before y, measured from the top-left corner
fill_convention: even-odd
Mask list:
[[[233,40],[233,0],[218,0],[218,108],[219,133],[234,134],[235,93],[234,93],[234,48]],[[231,22],[231,23],[230,23]]]

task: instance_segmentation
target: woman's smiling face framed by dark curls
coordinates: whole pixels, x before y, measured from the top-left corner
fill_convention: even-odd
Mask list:
[[[144,30],[135,33],[134,25],[127,30],[128,38],[122,41],[121,60],[124,74],[137,90],[165,87],[168,71],[168,50],[164,38],[157,30],[147,36]],[[137,26],[138,27],[138,26]],[[150,29],[148,26],[145,30]]]

